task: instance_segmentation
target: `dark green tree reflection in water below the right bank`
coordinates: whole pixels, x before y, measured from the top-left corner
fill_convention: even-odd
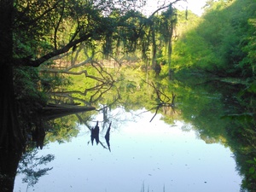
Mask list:
[[[256,118],[252,113],[255,105],[251,106],[254,99],[241,96],[240,90],[223,82],[196,84],[193,90],[190,88],[183,94],[179,108],[198,137],[206,143],[221,143],[230,148],[236,170],[243,177],[241,191],[255,191]],[[239,95],[241,101],[237,98]]]

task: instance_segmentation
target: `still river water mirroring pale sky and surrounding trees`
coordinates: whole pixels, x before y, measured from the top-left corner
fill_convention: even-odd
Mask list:
[[[141,95],[134,94],[128,104],[98,104],[104,110],[55,120],[68,125],[59,138],[49,131],[43,149],[23,155],[14,191],[240,191],[243,164],[238,143],[230,140],[236,125],[224,118],[236,111],[234,93],[213,85],[161,90],[162,102],[175,96],[163,108],[143,107],[148,102],[139,105]],[[92,143],[97,121],[99,140]]]

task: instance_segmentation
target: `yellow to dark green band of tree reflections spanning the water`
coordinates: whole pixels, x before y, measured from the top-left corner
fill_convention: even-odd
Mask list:
[[[82,68],[84,69],[84,67]],[[86,69],[94,77],[101,76],[95,67],[86,67]],[[183,119],[191,125],[183,127],[183,130],[189,131],[193,127],[198,137],[201,137],[206,143],[222,143],[229,147],[236,157],[237,169],[242,176],[245,176],[244,188],[253,186],[254,164],[245,163],[245,159],[253,160],[253,153],[256,148],[255,122],[253,112],[249,112],[250,110],[253,111],[253,107],[248,108],[247,103],[239,102],[234,97],[239,91],[236,87],[228,86],[223,82],[196,84],[193,87],[176,80],[154,79],[152,73],[148,73],[147,76],[137,67],[107,68],[105,73],[110,73],[113,76],[112,89],[107,92],[104,92],[105,87],[90,89],[85,95],[75,95],[79,99],[87,101],[90,100],[90,97],[94,97],[92,104],[98,108],[97,112],[81,115],[80,122],[85,122],[86,125],[86,120],[90,121],[95,114],[102,112],[102,106],[109,108],[109,110],[121,106],[126,111],[143,109],[143,111],[155,113],[155,106],[160,101],[156,91],[148,84],[154,81],[155,86],[166,96],[172,98],[172,92],[177,95],[174,101],[175,111],[170,107],[160,108],[158,113],[162,114],[162,119],[170,124],[173,124],[174,120]],[[195,85],[195,82],[193,83]],[[95,88],[98,84],[99,82],[95,79],[78,75],[73,77],[73,85],[64,86],[65,89],[63,88],[63,90],[68,88],[68,90],[84,92],[84,89]],[[96,93],[99,91],[102,91],[103,94],[97,95]],[[164,97],[161,98],[164,99]],[[234,108],[231,107],[233,105],[230,106],[230,100],[233,99],[236,100],[234,101]],[[248,112],[245,111],[245,108],[249,109]],[[221,118],[224,115],[228,118]],[[50,121],[51,128],[46,135],[46,143],[55,141],[64,143],[70,141],[72,137],[76,137],[79,133],[77,117],[73,115]]]

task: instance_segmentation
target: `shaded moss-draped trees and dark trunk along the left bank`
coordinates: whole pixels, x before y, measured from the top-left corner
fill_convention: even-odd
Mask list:
[[[36,70],[29,67],[48,66],[52,60],[61,58],[61,62],[67,61],[66,64],[71,62],[71,66],[75,61],[83,60],[85,60],[84,64],[96,64],[97,59],[102,58],[102,55],[119,60],[137,51],[140,52],[138,56],[154,68],[158,68],[156,71],[159,73],[159,65],[156,63],[158,45],[156,37],[166,37],[165,43],[169,44],[168,50],[171,53],[170,39],[176,22],[176,11],[172,4],[178,1],[163,4],[149,17],[138,11],[144,3],[140,0],[107,2],[28,0],[9,3],[1,1],[0,40],[4,44],[0,49],[3,58],[1,60],[3,68],[0,70],[2,73],[0,85],[3,90],[0,106],[1,119],[3,119],[0,127],[0,145],[8,148],[24,146],[15,98],[16,101],[20,99],[23,103],[25,98],[29,102],[34,99],[40,100],[42,96],[35,90],[49,90],[50,86],[53,86],[51,79],[41,80]],[[155,15],[161,9],[165,10],[166,14],[159,19]],[[84,56],[79,58],[77,53],[81,50],[84,51]],[[70,65],[64,64],[60,67],[70,67]],[[17,74],[14,73],[14,68]],[[88,74],[85,71],[84,73]],[[20,77],[24,79],[17,84],[16,81],[20,80]],[[60,81],[55,79],[54,82],[58,84]],[[14,88],[14,84],[17,87]],[[24,86],[20,87],[20,85]],[[24,90],[28,89],[30,89],[28,96],[23,96]],[[31,96],[35,98],[31,100],[29,98]],[[32,102],[30,104],[32,108],[26,108],[28,111],[23,113],[25,116],[34,113],[40,105],[42,107],[42,104],[44,103],[41,101]],[[19,110],[24,109],[21,107],[22,104]]]

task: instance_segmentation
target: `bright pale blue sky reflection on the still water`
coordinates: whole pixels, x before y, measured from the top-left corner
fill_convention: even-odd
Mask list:
[[[90,132],[83,125],[72,142],[49,143],[38,155],[54,154],[47,165],[53,169],[27,191],[140,192],[143,186],[155,192],[240,191],[241,177],[229,148],[207,144],[193,130],[182,131],[189,125],[180,121],[166,125],[159,115],[149,123],[153,115],[113,125],[111,152],[88,144]],[[100,136],[104,144],[106,131]],[[26,191],[22,177],[16,177],[14,191]]]

